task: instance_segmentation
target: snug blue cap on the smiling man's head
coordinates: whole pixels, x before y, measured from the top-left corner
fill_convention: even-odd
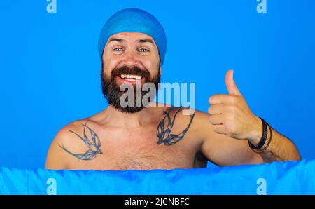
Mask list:
[[[113,34],[120,32],[140,32],[151,36],[160,53],[163,65],[167,47],[165,31],[160,22],[150,13],[139,8],[126,8],[113,14],[99,34],[99,56],[102,60],[104,47]]]

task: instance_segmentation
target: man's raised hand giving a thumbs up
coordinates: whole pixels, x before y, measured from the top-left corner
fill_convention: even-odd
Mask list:
[[[209,121],[214,125],[214,132],[258,144],[262,135],[262,122],[251,112],[239,92],[231,69],[225,76],[225,84],[228,95],[212,95],[209,98]]]

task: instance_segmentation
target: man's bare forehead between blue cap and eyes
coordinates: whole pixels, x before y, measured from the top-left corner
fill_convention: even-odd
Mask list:
[[[151,43],[156,46],[156,43],[151,36],[139,32],[120,32],[118,34],[113,34],[109,37],[109,40],[107,40],[106,45],[115,43],[116,41],[130,43]]]

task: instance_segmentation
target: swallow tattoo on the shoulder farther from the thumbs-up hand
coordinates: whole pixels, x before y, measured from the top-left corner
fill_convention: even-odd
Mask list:
[[[101,141],[99,140],[99,137],[97,136],[97,133],[94,132],[94,130],[92,130],[92,128],[90,128],[89,126],[85,124],[82,124],[82,126],[84,126],[84,130],[83,130],[83,137],[81,137],[80,135],[78,135],[78,133],[75,133],[72,130],[69,130],[71,133],[74,133],[75,135],[77,135],[80,140],[82,140],[87,147],[89,148],[89,150],[87,150],[85,152],[85,154],[75,154],[72,153],[71,151],[69,151],[68,149],[66,149],[63,146],[60,146],[64,151],[68,152],[69,154],[71,154],[72,156],[75,156],[76,158],[80,159],[80,160],[92,160],[94,159],[97,154],[103,154],[102,150],[101,150]],[[90,135],[92,137],[92,140],[90,140],[87,135],[86,135],[86,128],[90,131]]]

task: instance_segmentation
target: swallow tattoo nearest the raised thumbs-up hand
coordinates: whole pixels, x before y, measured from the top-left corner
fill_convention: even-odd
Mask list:
[[[193,114],[190,114],[190,122],[189,122],[188,126],[181,133],[179,133],[177,135],[172,134],[171,132],[172,132],[172,128],[174,126],[174,122],[176,120],[176,115],[182,110],[182,107],[176,111],[173,119],[171,119],[171,116],[169,116],[169,112],[172,109],[173,108],[171,108],[167,111],[164,111],[165,116],[163,117],[163,119],[158,124],[158,130],[157,130],[157,137],[158,137],[157,143],[158,144],[164,143],[167,146],[176,144],[177,142],[179,142],[180,140],[183,139],[184,135],[186,134],[186,132],[190,128],[191,123],[193,122],[195,112]],[[166,129],[165,129],[165,123],[167,123]]]

